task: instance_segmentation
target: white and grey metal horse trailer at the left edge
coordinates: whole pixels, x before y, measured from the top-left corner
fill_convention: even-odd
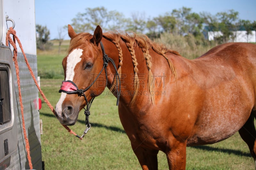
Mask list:
[[[0,0],[0,169],[29,169],[17,76],[12,60],[13,48],[5,43],[6,33],[10,27],[16,30],[28,62],[37,77],[34,0]],[[25,129],[31,162],[33,169],[44,169],[38,89],[18,44],[17,49]]]

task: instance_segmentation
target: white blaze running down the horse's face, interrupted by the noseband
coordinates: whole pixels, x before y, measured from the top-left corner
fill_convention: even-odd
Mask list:
[[[74,49],[67,57],[67,69],[66,69],[66,81],[70,80],[73,81],[73,78],[75,76],[75,67],[76,64],[79,63],[82,58],[80,58],[82,56],[82,52],[83,50],[80,48]],[[61,92],[61,96],[60,96],[60,100],[58,101],[58,103],[56,104],[55,110],[56,110],[56,114],[59,115],[59,117],[62,117],[62,102],[64,101],[64,99],[66,98],[67,93]]]

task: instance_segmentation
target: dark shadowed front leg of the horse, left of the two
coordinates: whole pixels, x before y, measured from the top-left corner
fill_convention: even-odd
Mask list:
[[[132,144],[132,150],[137,156],[140,166],[143,170],[157,169],[157,154],[158,150],[149,150],[138,145]]]

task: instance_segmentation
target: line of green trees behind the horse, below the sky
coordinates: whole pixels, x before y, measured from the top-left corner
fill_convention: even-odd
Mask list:
[[[207,28],[207,31],[221,32],[221,36],[214,39],[216,44],[220,44],[234,40],[236,35],[233,32],[241,28],[246,31],[247,36],[252,34],[252,30],[256,30],[256,21],[241,20],[238,15],[239,12],[234,10],[212,15],[208,12],[196,13],[192,8],[182,7],[154,18],[147,18],[144,12],[134,12],[131,18],[125,18],[121,12],[97,7],[86,8],[84,12],[77,13],[71,25],[77,33],[93,33],[96,26],[100,25],[104,32],[116,30],[143,33],[150,39],[159,38],[162,33],[192,35],[200,45],[209,43],[204,36]],[[37,25],[36,29],[39,27],[40,25]],[[42,29],[42,26],[40,28]],[[59,40],[61,40],[61,33],[59,33]]]

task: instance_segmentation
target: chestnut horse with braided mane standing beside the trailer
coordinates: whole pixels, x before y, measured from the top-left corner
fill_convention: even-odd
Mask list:
[[[256,160],[256,45],[227,43],[188,60],[145,35],[103,34],[100,26],[76,34],[70,25],[68,34],[56,105],[61,124],[75,124],[107,86],[142,169],[157,169],[159,151],[170,169],[185,169],[186,146],[237,131]]]

